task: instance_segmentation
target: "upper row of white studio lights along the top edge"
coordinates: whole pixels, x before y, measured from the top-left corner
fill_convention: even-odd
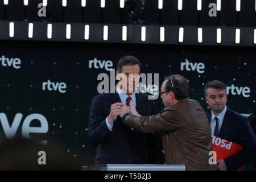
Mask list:
[[[52,0],[50,0],[52,1]],[[120,3],[120,8],[125,7],[125,0],[119,0]],[[163,0],[155,0],[158,1],[158,9],[163,9]],[[177,9],[182,10],[183,9],[183,0],[176,0],[177,1]],[[202,10],[202,1],[204,0],[197,0],[197,10],[201,11]],[[225,0],[224,0],[225,1]],[[24,6],[28,6],[28,0],[23,0]],[[4,5],[8,5],[9,0],[3,0]],[[217,11],[221,11],[221,0],[216,1],[217,5]],[[43,0],[43,6],[47,6],[47,0]],[[62,0],[62,6],[66,7],[67,6],[67,0]],[[86,7],[86,0],[81,0],[81,6]],[[101,0],[101,8],[105,7],[105,0]],[[236,0],[236,11],[241,10],[241,0]],[[255,0],[255,11],[256,11],[256,0]]]

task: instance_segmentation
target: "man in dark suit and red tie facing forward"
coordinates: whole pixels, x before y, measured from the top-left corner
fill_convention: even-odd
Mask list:
[[[146,94],[135,93],[140,71],[137,58],[122,57],[117,64],[116,92],[111,90],[92,100],[88,141],[97,147],[96,164],[161,163],[163,160],[161,144],[154,136],[121,125],[118,116],[123,105],[136,107],[141,115],[154,114],[154,102]]]

